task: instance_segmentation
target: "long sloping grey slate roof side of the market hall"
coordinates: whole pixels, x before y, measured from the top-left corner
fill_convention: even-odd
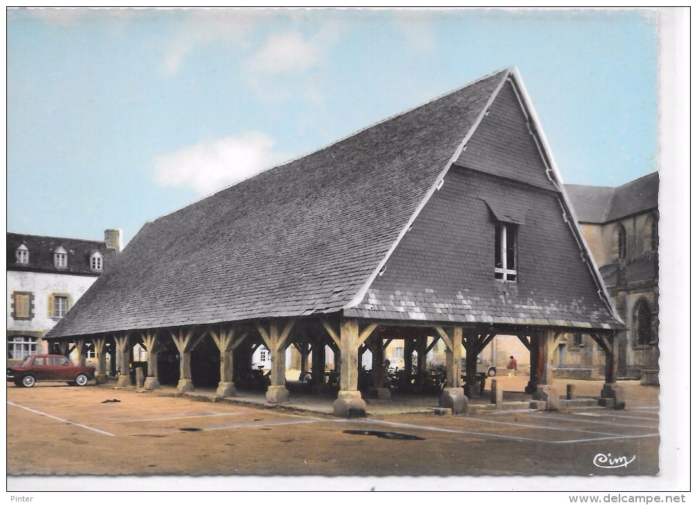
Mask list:
[[[514,70],[146,223],[48,336],[341,311]]]

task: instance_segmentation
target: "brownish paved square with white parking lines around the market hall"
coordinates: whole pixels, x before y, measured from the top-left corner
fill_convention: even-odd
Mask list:
[[[526,377],[498,380],[507,399]],[[596,396],[602,382],[575,383]],[[206,391],[138,393],[113,384],[7,388],[7,473],[17,475],[654,475],[658,389],[623,383],[627,410],[518,410],[434,416],[436,398],[368,405],[366,419],[325,414],[332,398]],[[208,392],[210,394],[210,391]],[[118,401],[114,401],[118,400]],[[31,437],[26,434],[31,433]],[[595,464],[594,464],[595,461]],[[626,465],[624,463],[627,463]],[[609,468],[615,467],[615,468]]]

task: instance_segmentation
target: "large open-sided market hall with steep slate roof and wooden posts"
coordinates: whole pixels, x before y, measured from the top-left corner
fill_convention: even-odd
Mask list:
[[[365,414],[363,394],[387,396],[392,341],[416,353],[417,377],[445,344],[448,406],[472,394],[476,356],[515,335],[530,352],[526,390],[553,407],[554,349],[584,332],[608,357],[602,396],[620,398],[623,329],[519,72],[506,69],[146,223],[48,338],[93,343],[100,376],[107,345],[125,370],[139,343],[144,387],[213,384],[220,396],[236,394],[265,345],[270,403],[289,398],[286,348],[312,355],[319,380],[328,346],[334,412],[348,417]],[[367,352],[373,387],[361,391]]]

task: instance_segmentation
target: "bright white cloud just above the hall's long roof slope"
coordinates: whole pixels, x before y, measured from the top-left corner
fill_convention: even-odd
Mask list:
[[[262,132],[245,132],[160,155],[155,158],[155,182],[190,187],[205,196],[289,159],[275,152],[274,144]]]

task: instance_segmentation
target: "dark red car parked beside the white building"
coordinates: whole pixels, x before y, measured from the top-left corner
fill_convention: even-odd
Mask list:
[[[43,381],[84,386],[94,378],[94,372],[93,366],[77,366],[62,355],[31,355],[22,364],[8,367],[7,380],[19,387],[32,387]]]

